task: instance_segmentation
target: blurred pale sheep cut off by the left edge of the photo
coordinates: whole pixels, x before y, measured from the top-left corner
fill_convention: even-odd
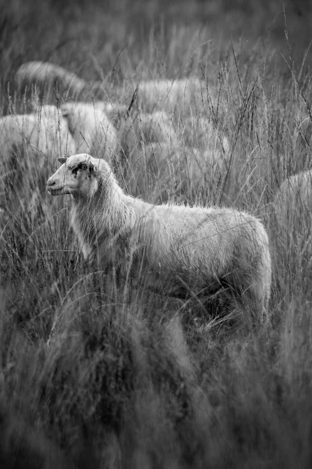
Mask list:
[[[0,119],[0,159],[9,160],[11,152],[22,145],[37,153],[42,166],[46,158],[52,161],[53,155],[75,153],[77,146],[56,106],[39,106],[36,113]]]

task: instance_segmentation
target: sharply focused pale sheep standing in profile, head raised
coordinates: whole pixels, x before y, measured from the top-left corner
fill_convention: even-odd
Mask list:
[[[233,208],[149,204],[125,195],[103,159],[59,161],[47,191],[73,196],[71,223],[86,259],[177,297],[228,287],[267,314],[271,260],[259,219]]]

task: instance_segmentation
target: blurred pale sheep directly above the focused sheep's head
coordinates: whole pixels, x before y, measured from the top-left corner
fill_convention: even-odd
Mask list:
[[[94,104],[65,103],[61,106],[61,112],[80,153],[100,151],[101,157],[110,159],[117,142],[116,128],[110,118],[111,105],[102,101]]]

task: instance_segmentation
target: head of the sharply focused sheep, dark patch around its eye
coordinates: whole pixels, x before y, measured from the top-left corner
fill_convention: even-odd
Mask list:
[[[69,158],[58,158],[62,166],[48,179],[47,191],[51,196],[72,194],[73,197],[90,197],[96,191],[96,174],[99,160],[81,153]]]

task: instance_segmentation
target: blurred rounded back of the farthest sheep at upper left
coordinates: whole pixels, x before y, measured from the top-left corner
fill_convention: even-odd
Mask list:
[[[73,96],[78,96],[89,87],[85,80],[82,80],[74,73],[68,72],[63,67],[59,67],[50,62],[30,61],[23,63],[15,73],[15,83],[20,91],[24,91],[29,83],[37,83],[44,88],[47,84],[48,90],[58,83],[58,91],[71,90]]]

